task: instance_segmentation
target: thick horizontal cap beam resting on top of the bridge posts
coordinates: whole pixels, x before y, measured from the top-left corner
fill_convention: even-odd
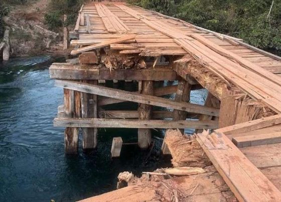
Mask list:
[[[146,69],[98,68],[94,65],[53,63],[49,68],[51,78],[69,80],[177,80],[177,72],[168,67]]]

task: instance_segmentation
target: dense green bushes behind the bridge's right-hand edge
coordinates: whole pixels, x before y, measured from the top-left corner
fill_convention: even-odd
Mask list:
[[[128,0],[197,26],[243,38],[260,48],[281,49],[281,1]],[[270,11],[270,12],[269,12]]]

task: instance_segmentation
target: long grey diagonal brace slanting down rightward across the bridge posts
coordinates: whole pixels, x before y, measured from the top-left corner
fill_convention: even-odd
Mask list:
[[[173,109],[178,109],[178,110],[183,110],[193,113],[202,113],[202,114],[208,114],[213,116],[219,116],[219,110],[217,108],[211,108],[211,107],[206,107],[199,104],[193,104],[187,102],[176,102],[167,98],[157,97],[153,95],[143,95],[135,92],[128,92],[125,90],[119,90],[110,87],[104,87],[104,86],[98,86],[98,85],[81,83],[77,81],[68,81],[68,80],[56,80],[55,85],[67,89],[73,89],[81,92],[87,92],[87,93],[97,94],[101,96],[123,99],[127,101],[168,107],[168,108],[173,108]]]

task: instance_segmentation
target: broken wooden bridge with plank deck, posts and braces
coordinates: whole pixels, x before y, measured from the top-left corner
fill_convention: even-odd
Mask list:
[[[150,128],[195,128],[239,201],[280,200],[281,185],[261,171],[281,171],[281,57],[121,2],[83,5],[72,35],[71,54],[79,55],[79,63],[50,67],[51,78],[64,88],[54,124],[66,127],[67,153],[77,152],[80,127],[84,149],[96,147],[99,127],[139,128],[142,148],[151,143]],[[98,80],[136,80],[138,91]],[[154,81],[162,80],[178,84],[155,88]],[[189,103],[190,91],[199,88],[209,91],[204,106]],[[175,100],[161,97],[172,93]],[[138,111],[102,109],[123,101],[139,103]],[[152,105],[174,110],[154,111]]]

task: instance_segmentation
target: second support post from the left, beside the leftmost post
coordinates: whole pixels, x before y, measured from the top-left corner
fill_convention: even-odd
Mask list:
[[[85,81],[86,82],[86,81]],[[87,81],[97,84],[97,80]],[[81,92],[82,118],[97,118],[97,95]],[[97,145],[97,128],[83,128],[83,149],[93,149]]]

